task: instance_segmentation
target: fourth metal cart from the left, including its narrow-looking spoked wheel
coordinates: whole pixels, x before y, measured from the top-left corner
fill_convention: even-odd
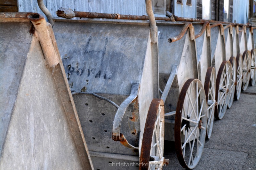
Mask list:
[[[212,134],[215,100],[216,73],[211,61],[211,28],[209,22],[193,22],[195,27],[196,54],[199,78],[204,85],[207,99],[207,131],[206,138]]]

